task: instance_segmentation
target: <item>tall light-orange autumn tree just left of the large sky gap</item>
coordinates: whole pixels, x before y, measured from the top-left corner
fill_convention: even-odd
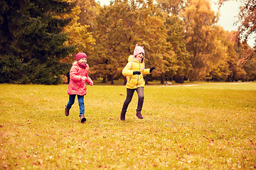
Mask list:
[[[187,50],[193,55],[191,78],[204,79],[227,57],[215,26],[218,15],[210,10],[209,1],[189,0],[181,16],[186,23]]]

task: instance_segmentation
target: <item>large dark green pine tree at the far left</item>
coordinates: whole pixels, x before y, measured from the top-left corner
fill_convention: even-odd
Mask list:
[[[73,51],[61,33],[61,15],[73,5],[60,0],[3,0],[0,4],[0,82],[59,84],[68,69],[59,60]]]

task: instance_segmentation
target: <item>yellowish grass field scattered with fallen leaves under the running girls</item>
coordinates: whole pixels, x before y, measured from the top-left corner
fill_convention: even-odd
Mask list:
[[[256,83],[145,86],[119,120],[125,86],[0,84],[0,169],[256,169]]]

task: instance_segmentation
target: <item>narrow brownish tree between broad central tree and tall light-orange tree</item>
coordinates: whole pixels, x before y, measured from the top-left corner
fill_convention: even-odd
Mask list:
[[[169,61],[165,75],[161,77],[161,84],[164,83],[164,79],[174,79],[178,83],[182,83],[184,77],[188,76],[188,72],[191,69],[190,53],[186,50],[185,27],[180,15],[181,11],[185,7],[185,1],[173,1],[173,0],[158,0],[157,6],[166,14],[166,21],[164,26],[166,28],[166,41],[171,44],[171,48],[174,52],[174,57]]]

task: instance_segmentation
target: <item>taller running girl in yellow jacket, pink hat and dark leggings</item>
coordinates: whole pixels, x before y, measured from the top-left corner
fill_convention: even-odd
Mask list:
[[[136,45],[134,49],[134,55],[129,56],[128,63],[122,70],[122,74],[127,77],[127,98],[125,99],[124,105],[122,106],[120,115],[121,120],[125,120],[125,113],[127,112],[129,103],[132,101],[134,91],[137,91],[138,94],[138,106],[136,115],[139,119],[143,118],[141,113],[144,102],[145,85],[143,74],[151,74],[151,72],[155,69],[154,67],[151,67],[151,69],[144,68],[144,55],[144,47]]]

